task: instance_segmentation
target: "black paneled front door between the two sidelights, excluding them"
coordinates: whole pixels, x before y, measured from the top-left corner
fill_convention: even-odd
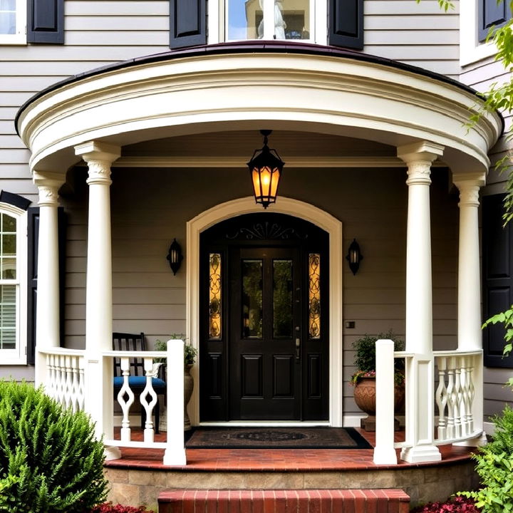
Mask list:
[[[301,416],[301,272],[297,247],[234,247],[229,262],[233,420]]]

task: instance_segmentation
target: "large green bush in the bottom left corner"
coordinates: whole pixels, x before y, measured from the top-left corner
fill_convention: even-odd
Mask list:
[[[107,494],[103,460],[85,413],[0,381],[0,512],[88,512]]]

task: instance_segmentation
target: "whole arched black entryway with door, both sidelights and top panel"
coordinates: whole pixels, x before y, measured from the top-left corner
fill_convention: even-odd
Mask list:
[[[200,420],[326,420],[328,234],[247,214],[200,243]]]

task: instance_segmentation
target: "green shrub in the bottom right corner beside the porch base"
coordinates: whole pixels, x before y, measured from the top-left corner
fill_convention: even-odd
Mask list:
[[[507,406],[502,415],[493,418],[493,441],[480,447],[472,457],[482,488],[460,492],[475,499],[483,513],[513,512],[513,410]]]

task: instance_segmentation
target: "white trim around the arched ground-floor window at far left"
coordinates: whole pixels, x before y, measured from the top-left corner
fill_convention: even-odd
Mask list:
[[[0,349],[1,365],[26,365],[27,309],[26,309],[26,266],[27,266],[27,214],[26,211],[9,203],[0,203],[0,212],[16,217],[16,280],[18,284],[16,308],[16,348]]]

